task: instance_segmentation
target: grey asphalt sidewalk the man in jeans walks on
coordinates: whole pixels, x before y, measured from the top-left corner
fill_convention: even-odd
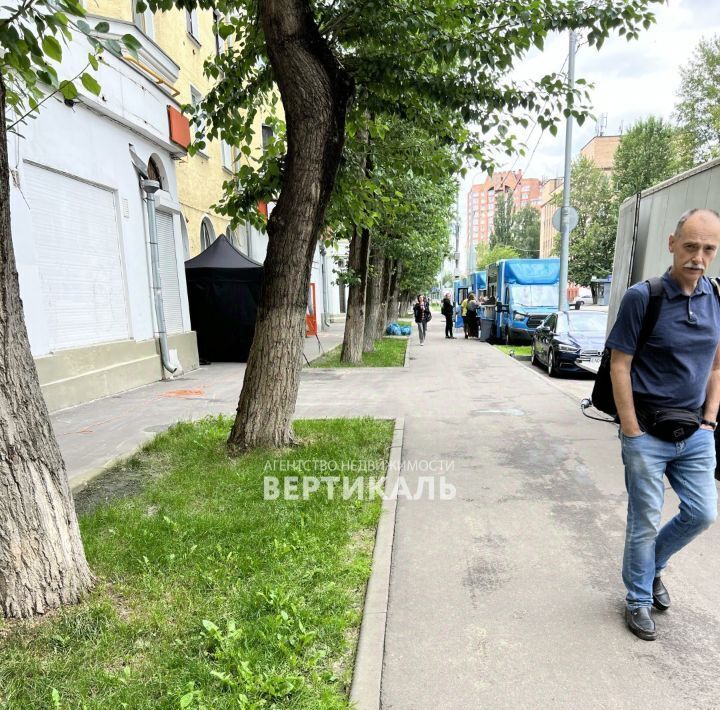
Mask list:
[[[403,461],[452,467],[453,500],[398,501],[383,707],[720,708],[720,525],[671,563],[659,640],[636,639],[622,617],[614,427],[583,418],[562,380],[446,340],[438,321],[425,347],[416,339],[406,369],[305,370],[296,410],[403,416]],[[104,420],[93,405],[60,413],[63,452],[122,453],[177,418],[234,411],[237,367],[192,377],[109,398]],[[164,396],[181,387],[205,389]],[[405,471],[410,490],[420,475]],[[666,518],[675,506],[669,494]]]

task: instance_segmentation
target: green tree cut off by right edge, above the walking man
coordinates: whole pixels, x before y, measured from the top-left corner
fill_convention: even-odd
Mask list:
[[[692,165],[720,156],[720,37],[700,40],[682,67],[675,116]]]

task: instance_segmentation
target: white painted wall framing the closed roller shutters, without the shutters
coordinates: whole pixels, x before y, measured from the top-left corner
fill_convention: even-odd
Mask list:
[[[68,53],[67,68],[63,65],[66,72],[72,71],[74,65],[81,61],[77,54],[85,51],[75,44],[72,49],[74,51]],[[166,113],[168,104],[175,105],[175,102],[124,62],[112,56],[106,57],[106,62],[101,65],[98,76],[102,86],[100,97],[84,94],[81,103],[74,106],[51,98],[44,104],[39,116],[22,127],[23,138],[10,139],[13,245],[25,319],[35,356],[49,353],[50,343],[38,255],[31,237],[32,204],[24,189],[27,172],[32,169],[30,166],[52,170],[112,192],[126,279],[129,335],[134,340],[147,340],[154,334],[147,214],[138,176],[130,159],[129,144],[132,143],[145,163],[153,156],[161,172],[165,173],[163,186],[167,189],[156,193],[158,209],[179,215]],[[123,125],[121,121],[127,121],[129,125]],[[157,138],[153,139],[154,136]],[[183,238],[180,220],[174,218],[173,222],[183,326],[187,331],[190,330],[190,318]]]

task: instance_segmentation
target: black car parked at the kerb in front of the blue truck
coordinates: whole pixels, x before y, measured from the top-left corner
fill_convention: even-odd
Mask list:
[[[605,311],[556,311],[533,333],[532,363],[545,365],[550,377],[584,372],[578,362],[600,362],[605,347]]]

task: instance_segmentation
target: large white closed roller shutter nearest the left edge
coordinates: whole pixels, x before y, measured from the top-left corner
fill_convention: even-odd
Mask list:
[[[125,340],[114,192],[27,163],[25,183],[50,349]]]

